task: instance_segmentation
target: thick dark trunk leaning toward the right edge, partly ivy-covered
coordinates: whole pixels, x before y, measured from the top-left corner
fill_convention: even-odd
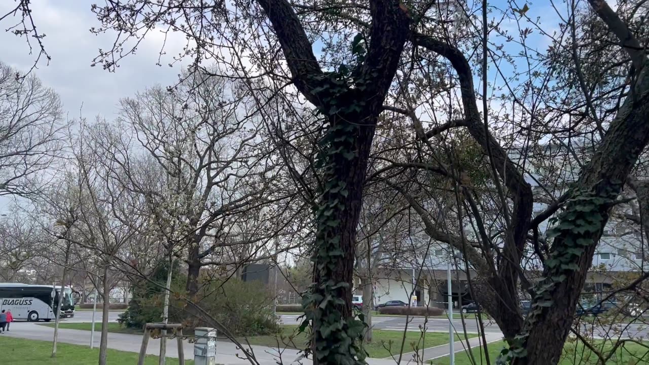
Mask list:
[[[550,265],[546,260],[543,281],[537,286],[537,297],[522,331],[523,338],[526,338],[526,355],[517,358],[515,364],[545,365],[556,364],[559,360],[596,246],[609,218],[612,201],[617,199],[624,181],[649,141],[647,120],[649,68],[645,66],[593,159],[580,173],[578,182],[572,188],[572,199],[566,204],[563,215],[559,216],[557,227],[561,229],[557,230],[549,258],[559,260],[561,264]],[[584,192],[589,192],[589,195]],[[577,197],[590,200],[580,201],[575,199]],[[601,218],[598,227],[591,221],[580,223],[580,220],[570,216],[583,208],[591,209],[587,218]],[[595,224],[598,229],[591,231],[591,226],[586,224]],[[582,232],[580,229],[585,233],[578,234]],[[582,238],[582,241],[575,242],[576,237]],[[567,252],[568,249],[572,251]],[[582,249],[583,253],[575,255],[574,249]],[[568,265],[576,267],[569,268]],[[544,288],[549,290],[545,289],[544,292]],[[541,301],[551,305],[540,305]]]

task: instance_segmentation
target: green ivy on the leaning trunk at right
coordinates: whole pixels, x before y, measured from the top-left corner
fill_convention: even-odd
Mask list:
[[[545,275],[535,286],[532,307],[523,331],[514,338],[509,348],[502,349],[496,364],[509,364],[528,355],[526,345],[530,329],[552,307],[552,294],[558,284],[563,283],[570,273],[580,270],[576,262],[579,262],[588,247],[596,244],[596,238],[606,224],[604,212],[615,202],[618,191],[614,184],[602,186],[604,188],[600,191],[573,190],[564,210],[550,220],[550,223],[559,224],[548,231],[548,238],[560,236],[563,242],[552,247],[550,257],[545,261]]]

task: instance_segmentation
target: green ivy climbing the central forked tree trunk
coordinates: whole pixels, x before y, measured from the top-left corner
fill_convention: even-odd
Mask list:
[[[319,364],[360,365],[365,364],[367,353],[363,350],[362,337],[365,321],[360,312],[352,312],[345,318],[343,308],[349,283],[336,282],[332,273],[339,270],[339,262],[345,253],[340,236],[343,222],[339,216],[345,210],[349,195],[347,183],[341,179],[345,160],[356,157],[356,140],[360,125],[354,116],[363,113],[365,103],[362,94],[367,80],[361,77],[360,69],[365,60],[365,41],[358,34],[352,42],[352,55],[356,65],[341,65],[337,71],[313,77],[317,87],[312,92],[323,107],[318,112],[324,116],[328,129],[319,141],[317,167],[323,171],[321,199],[315,208],[317,228],[315,250],[312,256],[314,270],[319,283],[313,283],[302,297],[304,321],[300,331],[306,331],[313,324],[312,349]]]

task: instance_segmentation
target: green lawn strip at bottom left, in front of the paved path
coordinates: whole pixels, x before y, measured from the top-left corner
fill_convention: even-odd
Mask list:
[[[52,342],[25,340],[0,336],[0,363],[11,365],[88,365],[97,364],[99,349],[88,346],[59,343],[56,345],[56,359],[51,358]],[[108,364],[137,364],[138,354],[126,351],[108,349],[106,353]],[[158,364],[158,357],[147,356],[147,365]],[[193,364],[193,360],[185,360],[185,364]],[[167,357],[167,364],[178,364],[178,359]]]

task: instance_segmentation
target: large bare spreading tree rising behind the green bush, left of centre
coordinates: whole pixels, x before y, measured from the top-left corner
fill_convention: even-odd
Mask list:
[[[219,246],[241,244],[221,239],[230,217],[259,207],[267,188],[258,126],[241,116],[245,106],[236,82],[197,73],[173,93],[156,87],[124,99],[122,123],[137,142],[116,135],[108,137],[113,149],[104,145],[111,178],[146,202],[167,250],[186,252],[190,296],[202,261]]]

